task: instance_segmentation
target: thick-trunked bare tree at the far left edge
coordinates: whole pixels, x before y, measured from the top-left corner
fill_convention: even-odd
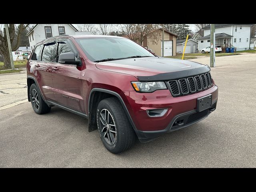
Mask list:
[[[10,35],[10,42],[12,44],[12,51],[17,50],[20,47],[20,41],[21,41],[21,36],[22,36],[22,32],[24,30],[26,30],[26,28],[28,27],[29,24],[20,24],[20,27],[18,28],[18,30],[16,30],[17,32],[17,41],[15,44],[12,44],[13,40],[14,40],[14,36],[15,36],[15,26],[14,24],[9,24],[9,35]],[[11,61],[10,61],[10,55],[9,55],[9,51],[8,51],[8,43],[7,43],[7,37],[6,37],[6,30],[4,29],[3,33],[0,33],[0,54],[3,56],[4,58],[4,66],[3,68],[6,69],[11,69]]]

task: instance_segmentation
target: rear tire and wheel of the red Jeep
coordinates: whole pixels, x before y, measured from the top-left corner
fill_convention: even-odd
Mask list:
[[[30,93],[30,101],[31,101],[34,112],[36,112],[37,114],[45,114],[51,110],[51,107],[49,107],[44,102],[36,84],[33,83],[30,86],[29,93]]]

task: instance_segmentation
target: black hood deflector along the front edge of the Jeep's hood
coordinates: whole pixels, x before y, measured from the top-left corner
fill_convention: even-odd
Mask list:
[[[204,74],[209,72],[211,69],[208,65],[188,69],[188,70],[181,70],[181,71],[174,71],[174,72],[168,72],[168,73],[161,73],[153,76],[137,76],[138,80],[141,82],[147,82],[147,81],[167,81],[167,80],[174,80],[174,79],[181,79],[181,78],[187,78],[190,76],[196,76],[199,74]]]

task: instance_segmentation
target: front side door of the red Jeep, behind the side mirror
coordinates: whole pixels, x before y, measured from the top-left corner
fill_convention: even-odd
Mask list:
[[[76,58],[78,58],[78,51],[69,39],[59,39],[56,46],[57,60],[52,64],[52,83],[55,100],[62,106],[85,113],[80,78],[81,71],[78,70],[76,65],[58,63],[59,54],[74,52]]]

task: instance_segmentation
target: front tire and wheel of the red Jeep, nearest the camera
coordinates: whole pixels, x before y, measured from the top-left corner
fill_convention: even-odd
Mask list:
[[[110,152],[120,153],[134,144],[136,134],[118,98],[100,101],[96,121],[102,143]]]

